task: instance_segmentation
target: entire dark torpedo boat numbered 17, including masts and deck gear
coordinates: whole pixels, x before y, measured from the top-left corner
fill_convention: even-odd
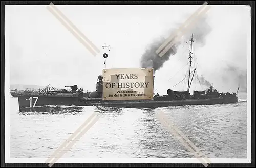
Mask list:
[[[76,106],[99,106],[99,107],[123,107],[123,108],[157,108],[168,106],[184,106],[184,105],[213,105],[213,104],[229,104],[238,102],[238,90],[233,93],[219,93],[213,86],[204,90],[193,90],[190,94],[190,87],[195,76],[197,76],[196,68],[191,70],[192,59],[192,43],[194,41],[193,35],[191,36],[190,52],[189,52],[189,73],[184,79],[188,78],[187,90],[175,91],[167,89],[167,95],[159,95],[158,93],[152,100],[103,100],[103,76],[98,76],[96,83],[96,91],[83,93],[82,89],[77,91],[77,85],[66,86],[71,87],[72,91],[58,90],[48,91],[48,86],[39,92],[29,93],[12,93],[13,97],[18,97],[19,109],[34,108],[38,106],[49,105],[76,105]],[[108,47],[108,46],[104,46]],[[106,58],[108,54],[103,54],[105,59],[104,65],[106,68]],[[191,77],[191,79],[190,79]],[[198,77],[198,76],[197,76]],[[153,89],[154,89],[155,75],[153,75]],[[180,83],[179,82],[179,83]],[[179,84],[178,83],[178,84]]]

